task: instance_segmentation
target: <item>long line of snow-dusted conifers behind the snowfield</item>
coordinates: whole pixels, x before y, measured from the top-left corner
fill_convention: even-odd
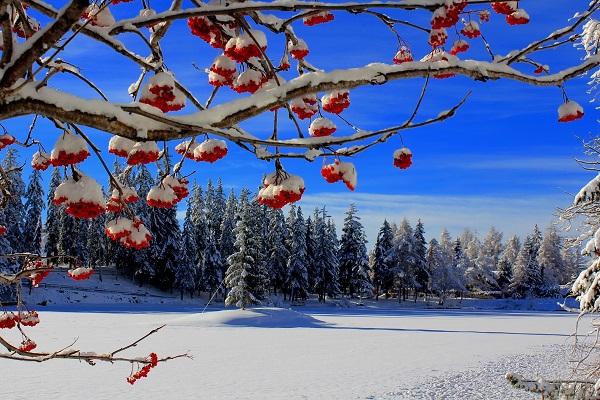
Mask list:
[[[0,237],[2,253],[69,255],[85,265],[114,265],[139,284],[176,289],[182,296],[208,292],[239,307],[271,295],[292,302],[310,295],[325,301],[435,294],[440,302],[464,293],[548,296],[573,278],[581,262],[554,227],[544,235],[534,227],[523,243],[517,236],[504,243],[494,228],[483,240],[470,230],[454,239],[443,230],[428,242],[423,223],[413,227],[406,219],[384,221],[368,252],[354,205],[338,236],[324,207],[306,217],[298,206],[284,213],[260,205],[248,189],[226,195],[220,180],[216,185],[209,180],[206,187],[193,184],[182,226],[174,208],[133,204],[153,240],[148,249],[128,250],[106,237],[106,215],[75,219],[52,202],[64,179],[61,169],[53,170],[44,199],[40,172],[34,170],[26,186],[15,150],[9,149],[2,164],[12,187],[11,203],[0,213],[0,224],[8,227]],[[144,165],[123,174],[117,162],[113,175],[142,199],[155,184]],[[8,259],[0,262],[3,269],[11,268]]]

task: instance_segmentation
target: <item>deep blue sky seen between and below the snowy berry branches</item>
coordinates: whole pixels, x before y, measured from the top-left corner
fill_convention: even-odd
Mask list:
[[[51,3],[62,5],[64,1]],[[170,2],[152,3],[158,8]],[[505,54],[566,25],[576,6],[584,6],[584,3],[522,1],[521,6],[532,19],[529,25],[510,27],[502,16],[492,13],[492,21],[483,25],[482,30],[493,51]],[[137,7],[135,3],[136,10]],[[137,12],[128,4],[114,6],[112,10],[117,18]],[[428,23],[430,15],[403,11],[390,14],[415,18],[422,25]],[[311,49],[308,60],[325,70],[390,62],[396,51],[393,34],[367,15],[337,13],[330,24],[305,27],[297,23],[294,28]],[[424,33],[401,26],[398,30],[416,57],[426,54]],[[146,54],[135,38],[125,35],[122,40],[140,54]],[[283,40],[269,36],[268,53],[275,60],[280,57]],[[471,50],[462,58],[488,59],[480,41],[470,43]],[[175,23],[163,42],[163,49],[167,66],[177,78],[199,98],[206,98],[211,89],[206,74],[192,64],[202,68],[210,66],[217,51],[193,37],[185,21]],[[550,64],[556,71],[577,63],[582,56],[581,51],[566,46],[540,54],[536,60]],[[127,87],[137,78],[139,70],[124,58],[115,57],[108,47],[80,38],[67,46],[62,58],[78,65],[111,100],[129,101]],[[402,122],[412,112],[422,83],[422,79],[411,79],[354,90],[352,105],[343,115],[362,129],[379,129]],[[51,86],[68,87],[78,95],[94,98],[89,88],[72,78],[53,79]],[[407,217],[414,222],[420,217],[429,237],[437,236],[442,227],[448,227],[453,234],[466,227],[484,233],[490,225],[495,225],[506,234],[526,234],[535,223],[547,225],[556,207],[568,204],[570,195],[592,177],[592,173],[580,169],[573,160],[581,154],[581,140],[591,137],[597,127],[597,111],[587,104],[587,79],[567,84],[569,96],[586,109],[582,121],[570,124],[556,121],[556,109],[562,101],[557,88],[537,88],[509,81],[480,83],[463,77],[432,80],[418,118],[437,115],[469,90],[473,91],[470,99],[454,118],[403,135],[404,144],[414,153],[414,165],[409,170],[401,171],[392,166],[392,153],[401,147],[399,137],[355,158],[359,175],[356,192],[349,192],[343,184],[326,183],[319,173],[320,160],[313,163],[286,161],[286,168],[302,175],[306,182],[307,191],[300,205],[312,209],[326,204],[339,225],[344,210],[350,203],[356,203],[371,241],[384,218],[399,221]],[[217,102],[232,99],[234,95],[227,89],[218,96]],[[332,119],[340,131],[349,133],[349,128],[340,120]],[[21,137],[30,120],[18,118],[5,125],[11,133]],[[254,134],[263,136],[268,135],[271,126],[270,114],[244,124]],[[308,124],[304,127],[308,129]],[[292,125],[286,121],[280,130],[284,135],[294,134]],[[86,131],[106,148],[109,138],[106,133]],[[47,149],[52,147],[58,134],[48,123],[39,124],[37,133]],[[21,151],[21,155],[25,160],[30,152]],[[113,160],[108,154],[106,158]],[[185,169],[196,171],[192,179],[202,184],[209,178],[221,177],[226,187],[238,190],[244,186],[257,187],[262,174],[272,168],[272,164],[257,161],[232,145],[224,160],[213,165],[188,162]],[[81,169],[106,183],[96,161],[86,161]],[[29,174],[28,165],[25,174]]]

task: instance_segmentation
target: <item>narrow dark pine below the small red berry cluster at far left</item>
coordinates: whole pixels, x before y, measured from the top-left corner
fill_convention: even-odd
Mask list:
[[[42,176],[40,171],[34,169],[25,192],[23,251],[34,254],[42,253],[42,211],[44,207]]]

